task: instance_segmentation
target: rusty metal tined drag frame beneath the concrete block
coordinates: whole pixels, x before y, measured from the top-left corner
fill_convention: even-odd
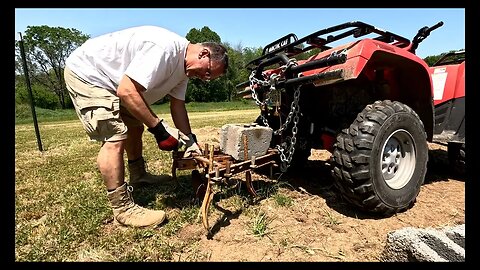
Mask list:
[[[191,157],[183,157],[183,151],[172,152],[172,176],[177,178],[177,170],[192,170],[192,184],[194,186],[197,198],[203,196],[200,214],[202,216],[202,224],[208,232],[210,226],[208,223],[208,208],[213,198],[212,185],[227,183],[228,180],[239,173],[245,172],[245,184],[248,192],[257,197],[257,193],[252,185],[252,170],[270,166],[270,174],[273,167],[278,166],[278,150],[268,149],[267,153],[261,156],[251,156],[247,158],[248,141],[243,138],[244,160],[235,160],[232,156],[222,153],[219,149],[215,149],[214,145],[205,144],[203,155],[193,155]]]

